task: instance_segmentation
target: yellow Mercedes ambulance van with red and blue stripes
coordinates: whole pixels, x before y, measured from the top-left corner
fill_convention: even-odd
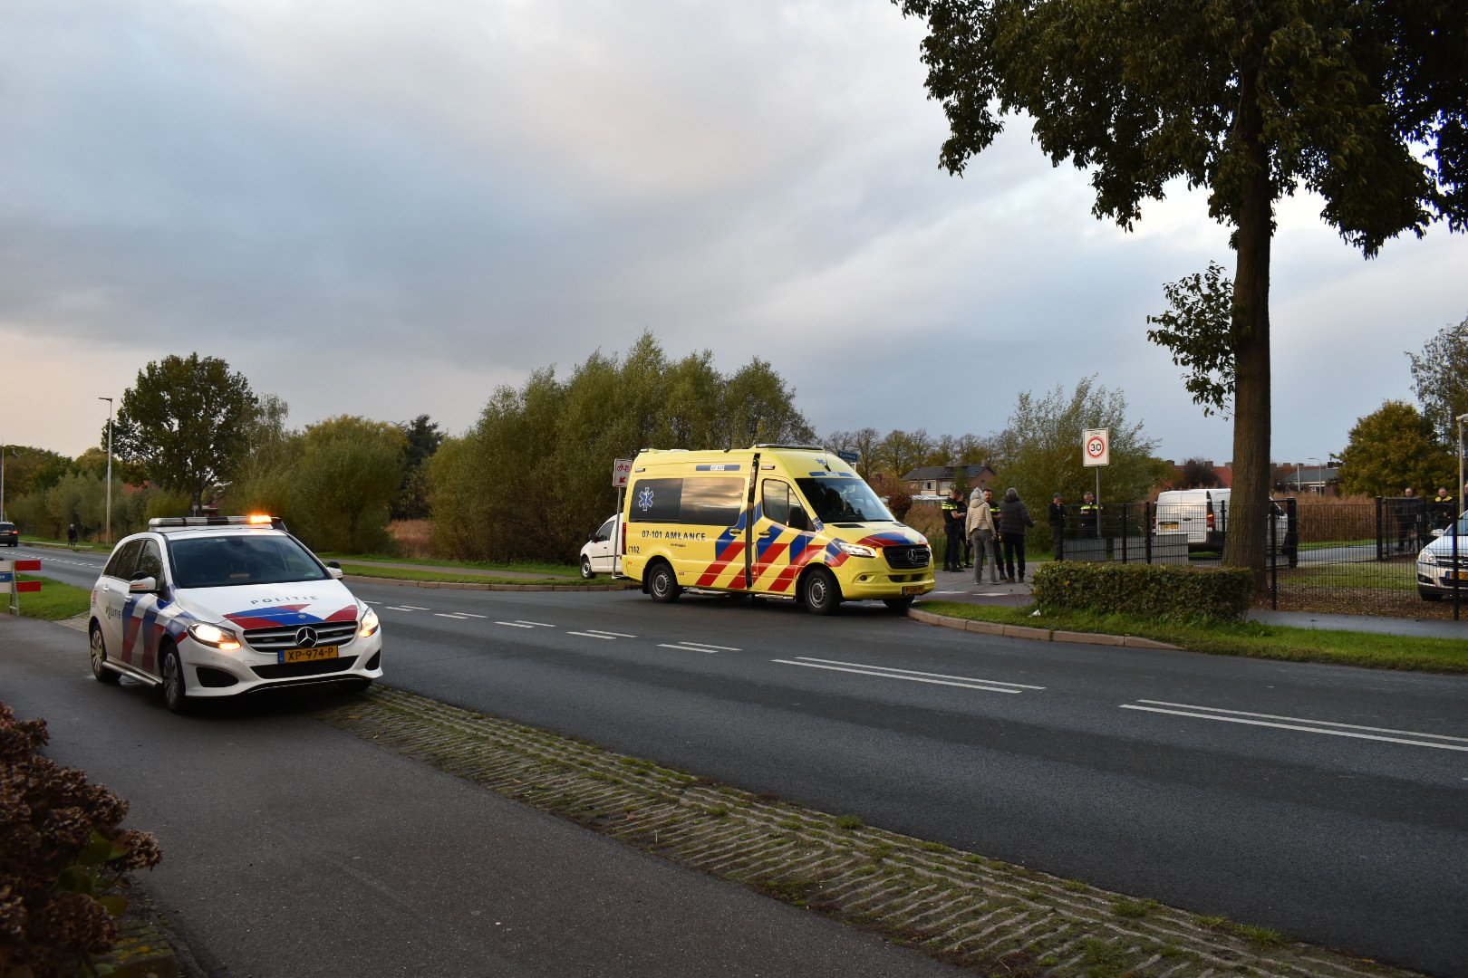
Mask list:
[[[903,610],[932,591],[928,538],[862,477],[815,446],[644,450],[622,513],[622,569],[656,601],[684,589]]]

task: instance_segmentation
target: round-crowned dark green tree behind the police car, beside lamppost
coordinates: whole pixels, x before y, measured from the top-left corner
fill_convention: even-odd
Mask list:
[[[164,356],[138,371],[122,393],[113,422],[113,453],[135,462],[144,478],[186,491],[194,506],[248,449],[260,399],[244,374],[214,356]],[[101,444],[107,443],[103,428]]]

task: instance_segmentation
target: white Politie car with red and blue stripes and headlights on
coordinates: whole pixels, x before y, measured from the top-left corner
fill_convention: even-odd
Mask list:
[[[382,625],[270,516],[148,521],[123,538],[91,594],[91,666],[191,701],[382,676]]]

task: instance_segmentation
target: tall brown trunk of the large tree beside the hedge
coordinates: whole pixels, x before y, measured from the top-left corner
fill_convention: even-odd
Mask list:
[[[1273,202],[1270,157],[1258,109],[1254,45],[1239,85],[1236,138],[1248,167],[1239,199],[1238,268],[1233,279],[1233,493],[1224,565],[1249,567],[1254,589],[1267,588],[1270,497],[1270,240]]]

